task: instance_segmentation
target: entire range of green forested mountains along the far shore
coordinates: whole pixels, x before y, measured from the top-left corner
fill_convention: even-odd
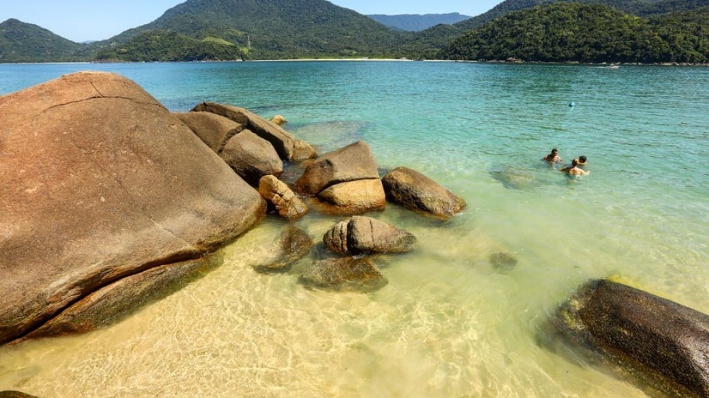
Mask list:
[[[454,25],[405,32],[325,0],[188,0],[152,23],[89,45],[10,19],[0,24],[0,62],[515,57],[705,63],[707,10],[709,0],[506,0]]]

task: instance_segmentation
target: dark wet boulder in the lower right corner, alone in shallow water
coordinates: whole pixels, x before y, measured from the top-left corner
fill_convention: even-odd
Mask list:
[[[640,387],[709,397],[709,316],[610,280],[593,280],[559,308],[555,324]]]

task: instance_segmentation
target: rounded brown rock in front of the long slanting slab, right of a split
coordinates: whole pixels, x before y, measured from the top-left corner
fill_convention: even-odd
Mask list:
[[[251,186],[258,186],[263,176],[283,173],[283,161],[273,146],[250,130],[231,137],[220,156]]]

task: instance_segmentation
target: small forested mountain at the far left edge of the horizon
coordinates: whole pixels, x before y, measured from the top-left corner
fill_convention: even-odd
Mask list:
[[[0,62],[69,62],[84,45],[14,18],[0,23]]]

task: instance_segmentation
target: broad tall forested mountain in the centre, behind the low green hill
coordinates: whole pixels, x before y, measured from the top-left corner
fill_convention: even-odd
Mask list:
[[[247,59],[381,56],[403,40],[393,29],[325,0],[188,0],[152,23],[102,42],[100,57],[133,59],[130,47],[136,43],[129,40],[150,31],[230,42]],[[175,38],[150,35],[158,42]]]

